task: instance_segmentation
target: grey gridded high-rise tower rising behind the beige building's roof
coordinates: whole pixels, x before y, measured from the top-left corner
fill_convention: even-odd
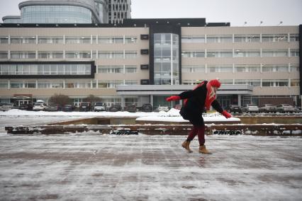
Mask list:
[[[131,18],[131,0],[108,0],[109,23],[123,23]]]

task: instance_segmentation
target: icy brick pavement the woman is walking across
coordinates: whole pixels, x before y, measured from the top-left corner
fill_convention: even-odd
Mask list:
[[[0,135],[0,200],[301,200],[302,138]]]

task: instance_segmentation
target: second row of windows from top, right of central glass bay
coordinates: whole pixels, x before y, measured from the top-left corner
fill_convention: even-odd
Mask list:
[[[299,57],[299,50],[183,50],[181,57]]]

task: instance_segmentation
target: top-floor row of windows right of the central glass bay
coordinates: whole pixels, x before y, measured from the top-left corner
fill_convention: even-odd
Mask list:
[[[227,43],[227,42],[297,42],[298,34],[247,34],[247,35],[183,35],[184,43]]]

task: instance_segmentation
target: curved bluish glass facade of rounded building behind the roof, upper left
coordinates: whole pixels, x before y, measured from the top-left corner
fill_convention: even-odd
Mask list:
[[[24,6],[21,23],[96,23],[88,8],[80,6]]]

